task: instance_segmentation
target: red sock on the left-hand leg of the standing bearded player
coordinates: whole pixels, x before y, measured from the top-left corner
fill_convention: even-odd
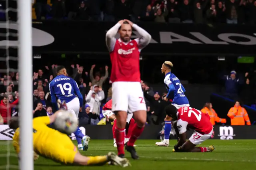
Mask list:
[[[124,154],[125,128],[121,129],[116,127],[115,134],[118,155]]]

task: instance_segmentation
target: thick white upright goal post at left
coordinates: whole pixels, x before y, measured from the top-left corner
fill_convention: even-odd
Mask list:
[[[32,81],[32,4],[18,0],[18,71],[20,111],[20,170],[34,170],[33,158],[33,81]]]

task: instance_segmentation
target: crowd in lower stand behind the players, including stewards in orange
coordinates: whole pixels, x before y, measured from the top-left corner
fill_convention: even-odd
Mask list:
[[[54,113],[48,87],[52,79],[56,77],[57,66],[58,65],[44,66],[44,68],[38,69],[38,71],[33,74],[34,117],[51,115]],[[92,125],[97,125],[103,118],[102,106],[111,99],[112,95],[111,84],[109,83],[110,73],[108,72],[108,66],[97,67],[96,71],[95,67],[96,65],[92,65],[88,72],[84,70],[84,67],[78,64],[72,64],[66,67],[69,76],[78,83],[80,92],[84,98],[82,112],[79,113],[79,119],[85,124]],[[256,89],[256,72],[246,73],[244,77],[240,78],[236,77],[236,71],[231,71],[230,74],[231,75],[224,76],[223,78],[226,87],[224,95],[230,99],[237,100],[238,96],[241,96],[239,95],[239,92],[241,91],[240,88],[243,87],[241,98],[244,100],[244,103],[246,105],[255,105],[256,98],[254,94]],[[3,75],[0,80],[0,115],[4,118],[4,123],[7,123],[8,120],[6,117],[8,113],[9,116],[19,115],[18,108],[16,108],[19,98],[19,73],[15,74],[10,72],[9,75]],[[169,105],[170,102],[164,101],[163,96],[166,93],[160,94],[155,92],[149,83],[141,81],[141,85],[147,106],[147,122],[149,124],[158,125],[164,120],[164,107]],[[246,85],[246,88],[244,88],[244,85]],[[246,93],[246,91],[248,91],[248,93]],[[9,110],[7,110],[8,103],[10,103]],[[3,109],[4,107],[7,108]],[[245,120],[246,123],[250,122],[246,109],[241,109],[240,103],[237,106],[235,105],[234,108],[235,109],[231,108],[228,112],[228,117],[230,117],[230,119],[234,118],[232,117],[233,114],[241,114],[243,115],[242,119]],[[213,125],[215,124],[214,122],[226,123],[226,119],[218,117],[214,109],[212,109],[211,103],[206,103],[202,112],[208,113],[210,117],[213,118],[211,120]],[[241,122],[244,123],[244,121]],[[106,124],[106,122],[104,124]]]

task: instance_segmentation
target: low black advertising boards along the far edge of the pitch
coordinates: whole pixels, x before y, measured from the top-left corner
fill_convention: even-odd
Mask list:
[[[93,139],[113,139],[112,125],[86,125],[81,126],[82,132]],[[86,131],[85,131],[86,129]],[[140,139],[158,139],[158,134],[162,130],[161,125],[147,125]],[[214,126],[214,139],[230,140],[230,139],[256,139],[256,126]],[[193,133],[189,130],[187,137]],[[0,125],[0,140],[12,140],[14,130],[8,125]],[[75,140],[74,134],[70,136]]]

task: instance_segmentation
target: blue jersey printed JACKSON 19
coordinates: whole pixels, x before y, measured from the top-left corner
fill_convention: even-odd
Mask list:
[[[66,103],[72,101],[76,97],[76,91],[79,91],[76,81],[65,75],[57,75],[49,83],[49,89],[51,95],[54,94]]]

